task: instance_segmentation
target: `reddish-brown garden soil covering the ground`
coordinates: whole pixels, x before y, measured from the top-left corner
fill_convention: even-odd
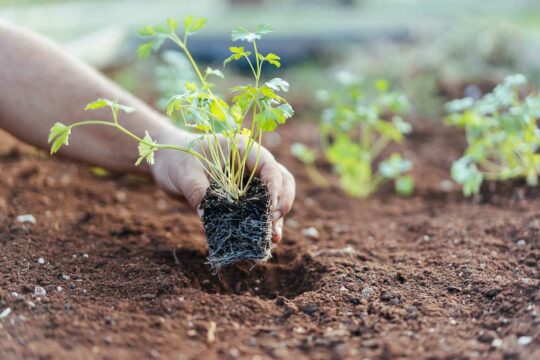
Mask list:
[[[540,358],[540,191],[441,186],[461,135],[419,122],[416,195],[350,199],[288,155],[313,126],[280,134],[298,180],[284,241],[219,276],[186,204],[0,135],[0,358]]]

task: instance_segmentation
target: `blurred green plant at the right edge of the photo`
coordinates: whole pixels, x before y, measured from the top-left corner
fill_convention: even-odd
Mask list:
[[[465,130],[467,149],[451,169],[463,194],[480,191],[484,180],[525,178],[538,185],[540,174],[540,96],[524,98],[523,75],[512,75],[478,101],[464,98],[446,105],[446,122]]]

